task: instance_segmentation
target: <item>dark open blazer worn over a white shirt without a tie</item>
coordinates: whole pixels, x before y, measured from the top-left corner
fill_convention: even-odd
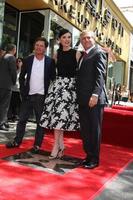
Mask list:
[[[20,73],[20,93],[22,98],[25,98],[29,94],[30,89],[30,76],[32,71],[32,65],[33,65],[34,55],[28,56],[23,61],[22,70]],[[49,56],[45,55],[44,59],[44,91],[45,94],[48,91],[48,87],[51,80],[55,79],[55,62],[53,59],[51,59]],[[37,81],[37,80],[35,80]]]

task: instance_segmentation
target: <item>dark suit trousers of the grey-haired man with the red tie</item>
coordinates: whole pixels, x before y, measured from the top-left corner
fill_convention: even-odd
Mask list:
[[[104,106],[79,106],[81,137],[87,159],[99,162],[101,126]]]

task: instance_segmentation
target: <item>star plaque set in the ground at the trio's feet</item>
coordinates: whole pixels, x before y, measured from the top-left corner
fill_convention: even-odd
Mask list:
[[[64,174],[79,165],[80,159],[64,156],[62,159],[49,160],[49,152],[32,154],[30,151],[5,158],[21,165],[27,165],[55,174]]]

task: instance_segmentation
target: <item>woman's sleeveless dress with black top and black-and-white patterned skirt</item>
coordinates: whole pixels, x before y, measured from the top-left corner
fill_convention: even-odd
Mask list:
[[[58,51],[57,77],[49,87],[40,124],[48,129],[79,130],[76,96],[76,50]]]

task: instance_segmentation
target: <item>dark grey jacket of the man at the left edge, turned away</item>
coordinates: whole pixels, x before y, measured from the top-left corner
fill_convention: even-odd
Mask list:
[[[16,59],[13,55],[6,54],[0,58],[0,88],[11,90],[16,77]]]

